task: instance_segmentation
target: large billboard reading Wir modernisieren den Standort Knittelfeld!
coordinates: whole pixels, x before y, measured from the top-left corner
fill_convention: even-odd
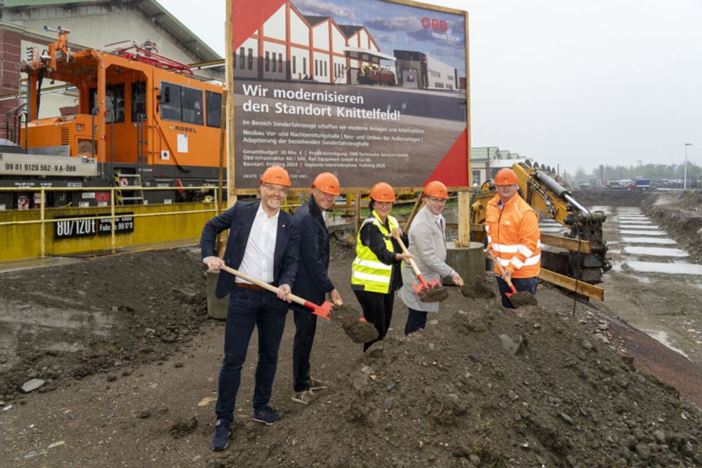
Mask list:
[[[383,0],[232,0],[234,186],[468,185],[468,14]],[[231,112],[231,111],[230,111]]]

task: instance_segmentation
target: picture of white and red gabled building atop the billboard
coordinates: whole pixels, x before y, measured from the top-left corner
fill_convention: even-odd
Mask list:
[[[425,32],[432,30],[432,22],[422,22],[423,19],[416,18],[409,34],[436,34]],[[381,48],[383,41],[392,46],[395,36],[378,34],[380,39],[376,40],[371,32],[373,27],[345,24],[347,21],[349,18],[305,14],[286,1],[234,50],[234,76],[237,79],[398,85],[446,91],[465,89],[465,76],[459,76],[456,67],[432,55],[445,51],[445,47],[433,47],[431,51],[393,48],[385,51]],[[370,23],[382,29],[392,25],[378,18],[371,19]],[[446,24],[445,20],[437,21],[436,29],[440,32]],[[416,40],[412,44],[420,43]],[[461,44],[465,48],[465,41]]]

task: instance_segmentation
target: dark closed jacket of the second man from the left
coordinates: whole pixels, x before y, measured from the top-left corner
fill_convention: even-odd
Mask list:
[[[293,286],[293,294],[317,305],[322,305],[326,293],[333,290],[329,279],[329,232],[314,198],[310,197],[293,215],[300,231],[300,267]],[[296,312],[310,309],[293,304]]]

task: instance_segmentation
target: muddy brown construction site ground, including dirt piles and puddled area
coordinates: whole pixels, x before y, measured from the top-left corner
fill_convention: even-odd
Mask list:
[[[308,406],[290,399],[289,314],[271,402],[284,418],[251,419],[254,334],[221,453],[209,440],[224,326],[206,312],[199,249],[1,273],[0,466],[702,466],[702,275],[675,270],[701,263],[700,199],[576,198],[610,213],[605,302],[541,283],[537,306],[505,310],[486,297],[488,273],[472,285],[483,297],[451,288],[410,337],[398,298],[392,330],[366,354],[320,321],[312,375],[329,385]],[[630,242],[642,236],[622,231],[645,229],[624,221],[650,221],[675,244]],[[333,239],[331,278],[357,306],[353,256]],[[656,262],[677,267],[635,269]],[[32,379],[44,385],[22,392]]]

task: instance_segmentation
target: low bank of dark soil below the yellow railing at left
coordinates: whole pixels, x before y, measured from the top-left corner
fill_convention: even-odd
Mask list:
[[[197,257],[181,248],[1,274],[0,400],[33,378],[47,392],[166,359],[207,319]]]

